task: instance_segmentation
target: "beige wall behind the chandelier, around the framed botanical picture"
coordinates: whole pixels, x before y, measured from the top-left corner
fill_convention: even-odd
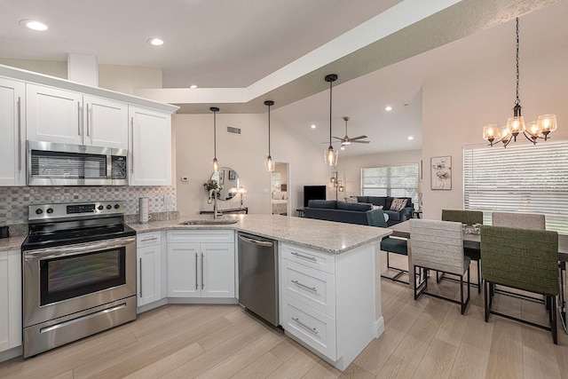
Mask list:
[[[513,62],[512,62],[513,63]],[[553,140],[568,139],[568,52],[521,55],[520,99],[525,122],[556,114]],[[504,125],[513,114],[515,67],[479,67],[475,72],[433,78],[422,87],[423,216],[439,219],[442,209],[463,209],[463,146],[485,146],[483,126]],[[519,136],[519,143],[528,143]],[[546,144],[547,142],[539,142]],[[515,144],[515,142],[511,142]],[[502,149],[495,146],[494,149]],[[452,156],[452,190],[430,190],[430,157]],[[503,170],[507,170],[506,167]]]

